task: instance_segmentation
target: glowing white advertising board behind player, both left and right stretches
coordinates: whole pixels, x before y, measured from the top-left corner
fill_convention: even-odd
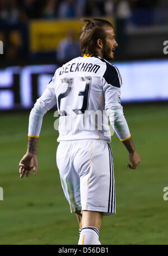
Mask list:
[[[121,101],[168,100],[168,60],[115,63],[122,74]],[[0,110],[30,109],[57,65],[13,66],[0,70]]]

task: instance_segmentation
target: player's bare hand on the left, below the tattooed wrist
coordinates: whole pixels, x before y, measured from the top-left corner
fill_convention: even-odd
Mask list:
[[[20,166],[20,169],[19,169],[20,178],[23,178],[25,173],[26,173],[26,177],[29,177],[32,169],[33,169],[34,176],[36,176],[36,173],[38,170],[37,154],[31,154],[29,152],[26,152],[26,155],[23,156],[23,158],[20,160],[20,163],[18,165]]]

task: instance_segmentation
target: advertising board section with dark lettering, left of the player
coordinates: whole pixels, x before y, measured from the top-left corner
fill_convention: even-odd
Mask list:
[[[0,70],[0,110],[30,109],[57,65],[11,66]]]

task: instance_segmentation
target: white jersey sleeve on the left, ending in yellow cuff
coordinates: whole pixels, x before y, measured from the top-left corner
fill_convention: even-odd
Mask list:
[[[41,125],[43,123],[43,116],[48,110],[52,109],[56,102],[57,99],[54,91],[53,77],[52,80],[49,82],[48,86],[46,87],[44,93],[41,95],[40,98],[38,98],[30,112],[28,132],[29,137],[39,137]]]

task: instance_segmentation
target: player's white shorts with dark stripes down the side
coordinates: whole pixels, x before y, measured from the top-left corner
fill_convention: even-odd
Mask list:
[[[71,212],[115,213],[113,154],[106,141],[61,141],[57,166]]]

